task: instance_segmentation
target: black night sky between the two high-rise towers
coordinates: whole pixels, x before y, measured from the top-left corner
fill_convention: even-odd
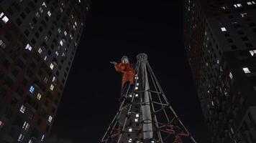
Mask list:
[[[198,143],[209,142],[183,46],[182,1],[93,0],[52,134],[99,142],[119,107],[121,74],[109,61],[145,52],[170,104]]]

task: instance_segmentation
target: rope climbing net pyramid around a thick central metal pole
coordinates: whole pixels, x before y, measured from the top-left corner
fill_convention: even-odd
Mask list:
[[[101,143],[196,143],[170,106],[146,54],[137,55],[135,81]]]

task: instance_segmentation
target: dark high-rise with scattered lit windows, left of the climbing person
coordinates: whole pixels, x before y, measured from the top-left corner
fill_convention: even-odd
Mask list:
[[[88,0],[0,1],[0,142],[45,142]]]

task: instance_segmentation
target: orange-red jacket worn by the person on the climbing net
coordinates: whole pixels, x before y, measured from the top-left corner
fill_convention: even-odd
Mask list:
[[[122,72],[123,74],[122,87],[124,87],[124,84],[126,82],[134,84],[134,69],[132,67],[132,64],[119,63],[116,64],[114,67],[116,68],[117,72]]]

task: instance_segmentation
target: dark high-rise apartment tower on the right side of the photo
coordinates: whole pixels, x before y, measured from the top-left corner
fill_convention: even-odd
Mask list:
[[[256,1],[185,0],[184,42],[213,143],[256,142]]]

